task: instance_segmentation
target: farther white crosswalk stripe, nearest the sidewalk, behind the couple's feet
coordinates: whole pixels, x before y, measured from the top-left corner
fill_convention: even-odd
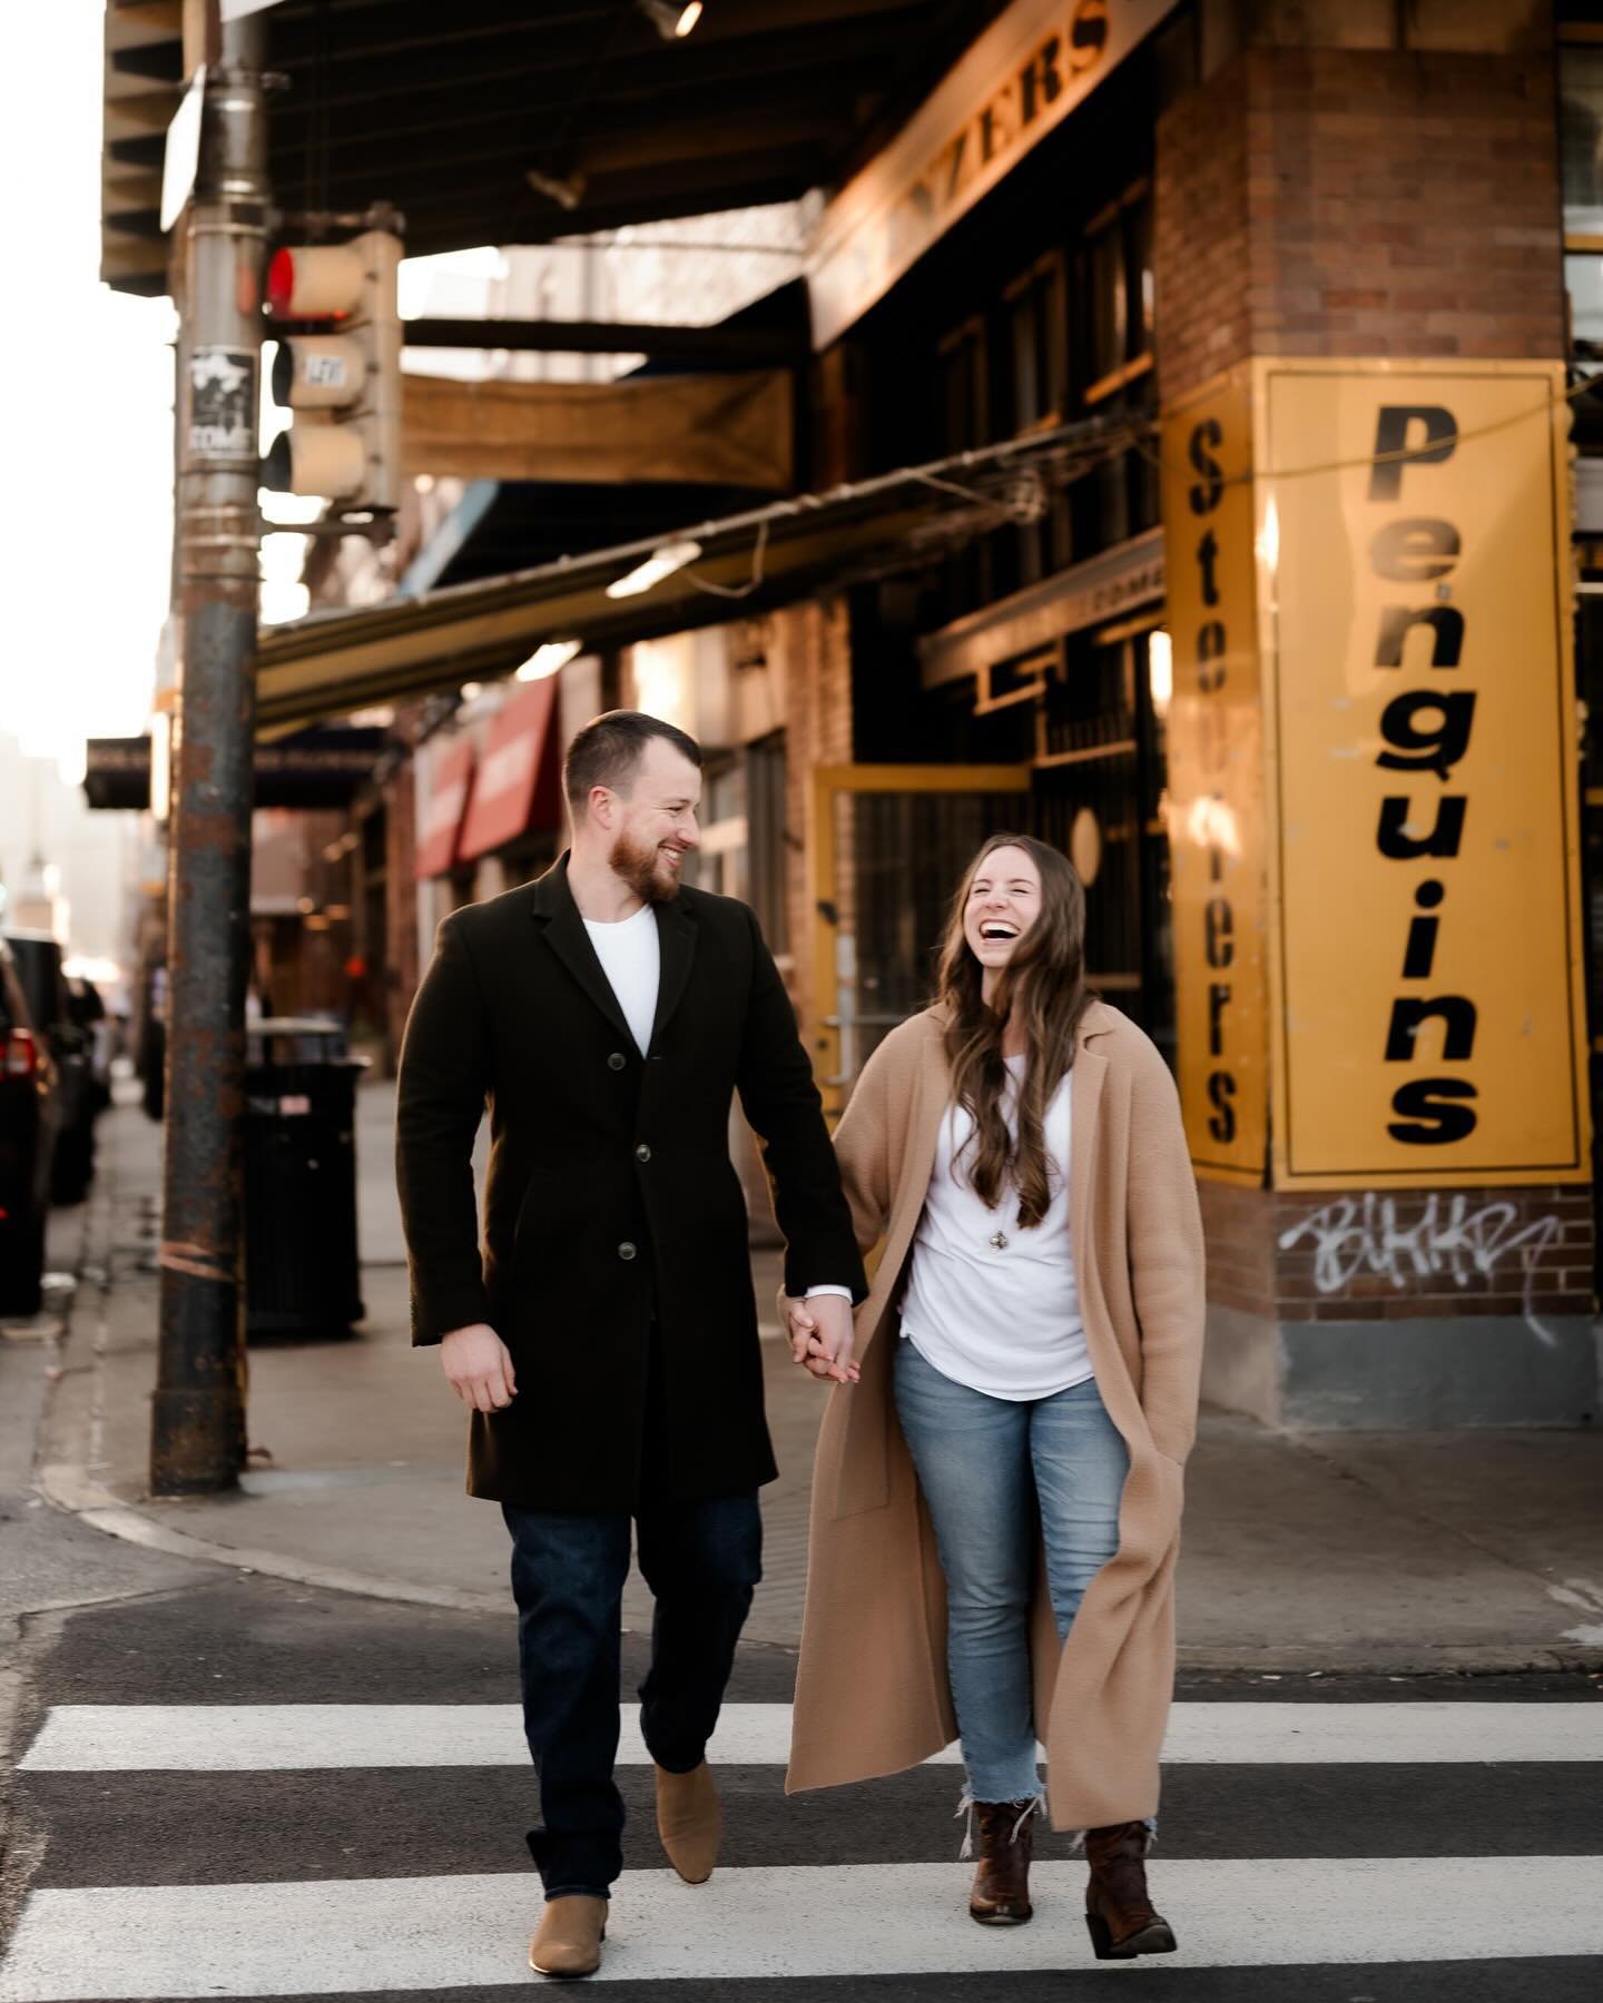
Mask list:
[[[637,1705],[621,1765],[645,1765]],[[789,1757],[789,1705],[725,1705],[713,1759]],[[58,1705],[22,1759],[34,1773],[242,1773],[317,1767],[521,1767],[517,1705]],[[956,1747],[936,1755],[958,1761]],[[1599,1703],[1180,1703],[1172,1765],[1375,1765],[1603,1759]]]

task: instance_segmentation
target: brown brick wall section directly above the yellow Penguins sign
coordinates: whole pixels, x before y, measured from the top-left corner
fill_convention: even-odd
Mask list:
[[[1248,355],[1563,355],[1541,54],[1246,50],[1156,134],[1166,403]]]

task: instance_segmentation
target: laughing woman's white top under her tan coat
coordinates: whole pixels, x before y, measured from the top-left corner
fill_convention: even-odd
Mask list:
[[[1002,1112],[1014,1134],[1024,1062],[1008,1058]],[[1052,1398],[1092,1376],[1068,1232],[1070,1080],[1064,1072],[1046,1110],[1052,1202],[1034,1230],[1018,1224],[1012,1180],[996,1210],[970,1188],[968,1160],[958,1156],[974,1132],[972,1114],[950,1106],[940,1126],[902,1334],[942,1376],[990,1398]]]

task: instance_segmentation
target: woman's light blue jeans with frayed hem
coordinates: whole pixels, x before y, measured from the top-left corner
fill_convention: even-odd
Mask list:
[[[946,1572],[968,1791],[974,1801],[1024,1801],[1040,1793],[1030,1689],[1038,1530],[1062,1638],[1118,1550],[1130,1456],[1094,1380],[1052,1398],[988,1398],[942,1376],[908,1340],[896,1348],[896,1412]]]

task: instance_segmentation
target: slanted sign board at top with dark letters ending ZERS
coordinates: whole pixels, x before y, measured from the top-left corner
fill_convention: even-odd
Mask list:
[[[1174,0],[1014,0],[830,202],[808,272],[828,349],[1130,54]]]

